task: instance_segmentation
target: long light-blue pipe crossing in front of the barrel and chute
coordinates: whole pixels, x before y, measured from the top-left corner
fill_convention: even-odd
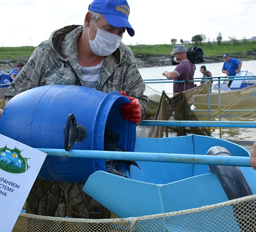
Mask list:
[[[49,156],[251,167],[249,157],[36,148]]]

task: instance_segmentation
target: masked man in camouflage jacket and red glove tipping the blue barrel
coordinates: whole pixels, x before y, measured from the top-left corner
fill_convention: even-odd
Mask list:
[[[128,21],[129,14],[126,0],[94,0],[83,26],[56,30],[35,49],[8,88],[6,103],[15,95],[41,85],[80,85],[127,95],[131,103],[122,105],[116,113],[140,123],[148,102],[144,96],[145,83],[134,54],[121,42],[126,31],[130,36],[135,34]],[[65,217],[67,204],[71,218],[110,218],[105,207],[82,192],[83,186],[84,183],[36,179],[27,198],[26,212]]]

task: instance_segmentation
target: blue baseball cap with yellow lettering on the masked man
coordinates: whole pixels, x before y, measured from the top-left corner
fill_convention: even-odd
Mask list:
[[[128,34],[134,36],[134,29],[128,22],[130,7],[126,0],[94,0],[88,10],[102,13],[110,25],[125,27]]]

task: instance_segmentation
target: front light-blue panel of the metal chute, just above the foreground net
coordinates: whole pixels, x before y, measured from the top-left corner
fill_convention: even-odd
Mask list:
[[[152,184],[97,171],[88,178],[83,191],[121,218],[175,212],[228,200],[216,175],[210,173]]]

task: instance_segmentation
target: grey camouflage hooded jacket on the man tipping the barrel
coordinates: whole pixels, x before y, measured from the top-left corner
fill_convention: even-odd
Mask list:
[[[38,45],[27,64],[9,86],[6,104],[15,95],[47,84],[81,85],[81,68],[78,63],[77,41],[82,26],[66,26],[54,31],[50,38]],[[125,91],[141,103],[141,121],[146,115],[148,97],[144,96],[145,83],[130,48],[123,43],[105,57],[97,90],[109,93]]]

